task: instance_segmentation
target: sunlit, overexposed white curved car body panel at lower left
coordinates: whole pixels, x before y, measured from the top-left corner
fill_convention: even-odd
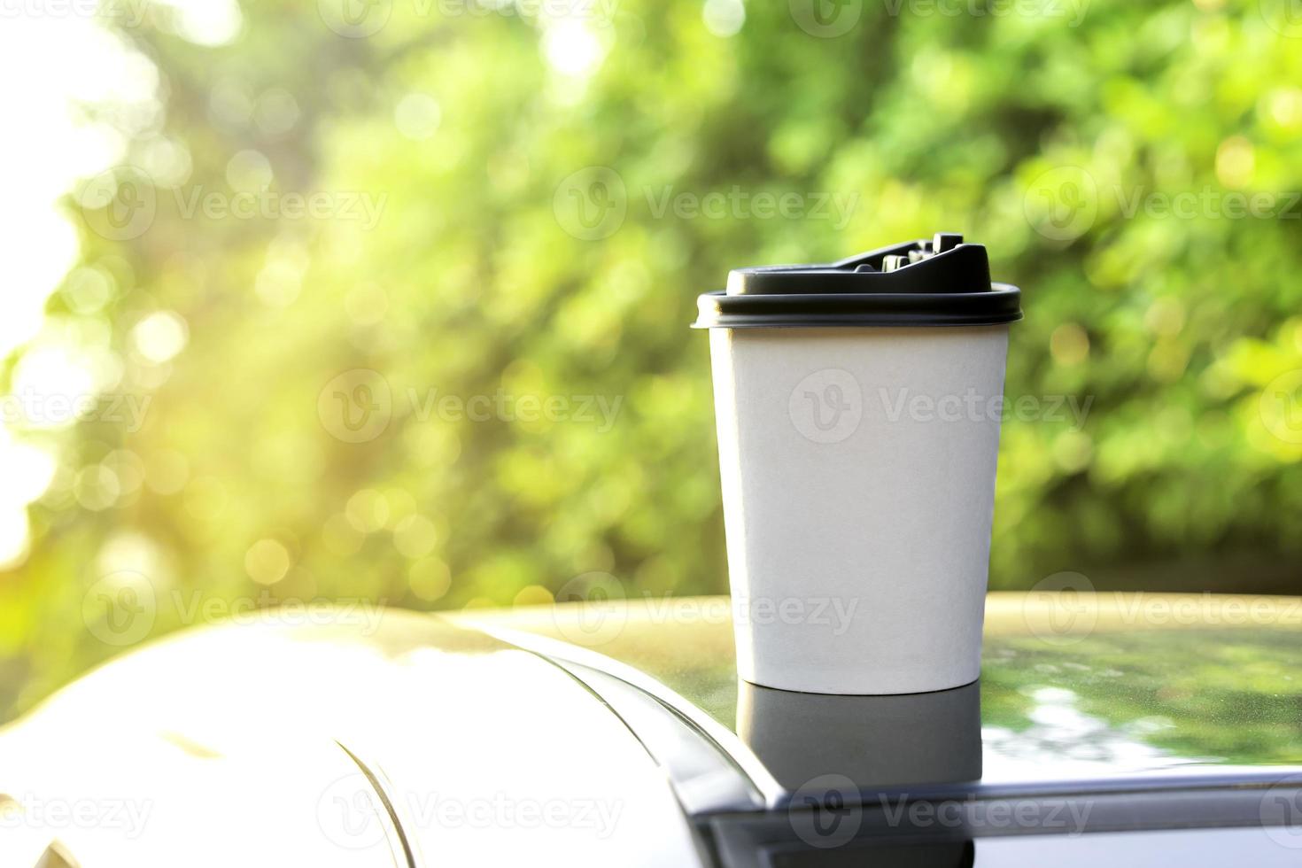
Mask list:
[[[56,838],[82,868],[699,860],[669,782],[589,688],[404,612],[128,655],[5,731],[0,778],[5,868]],[[62,806],[89,820],[51,822]]]

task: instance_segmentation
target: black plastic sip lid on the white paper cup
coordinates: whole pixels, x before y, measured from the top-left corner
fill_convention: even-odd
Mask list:
[[[991,282],[984,246],[936,233],[835,263],[738,268],[697,299],[691,327],[996,325],[1022,319],[1021,301]]]

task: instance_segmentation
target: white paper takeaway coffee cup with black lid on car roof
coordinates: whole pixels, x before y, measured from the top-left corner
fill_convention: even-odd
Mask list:
[[[699,298],[743,679],[913,694],[978,678],[1021,316],[986,249],[944,233],[737,269]]]

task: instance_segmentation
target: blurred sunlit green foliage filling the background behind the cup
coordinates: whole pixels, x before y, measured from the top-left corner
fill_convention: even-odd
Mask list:
[[[151,632],[193,619],[176,595],[724,591],[695,295],[936,229],[1025,290],[1008,396],[1088,401],[1079,428],[1005,423],[995,587],[1297,587],[1302,33],[1271,3],[792,0],[738,30],[719,0],[392,0],[358,4],[388,14],[366,36],[315,5],[245,4],[215,47],[165,8],[118,22],[160,111],[87,112],[130,134],[156,213],[115,238],[70,197],[83,264],[48,316],[150,405],[139,431],[43,435],[60,470],[0,576],[0,717],[115,651],[83,604],[122,570],[155,593]],[[151,351],[177,323],[185,347]],[[336,392],[383,431],[350,442]],[[437,403],[500,394],[566,410]]]

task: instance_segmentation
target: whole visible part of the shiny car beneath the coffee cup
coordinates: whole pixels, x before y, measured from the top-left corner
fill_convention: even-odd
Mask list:
[[[717,597],[195,630],[0,731],[0,864],[1302,856],[1302,604],[1082,600],[991,595],[982,683],[896,698],[738,685]]]

